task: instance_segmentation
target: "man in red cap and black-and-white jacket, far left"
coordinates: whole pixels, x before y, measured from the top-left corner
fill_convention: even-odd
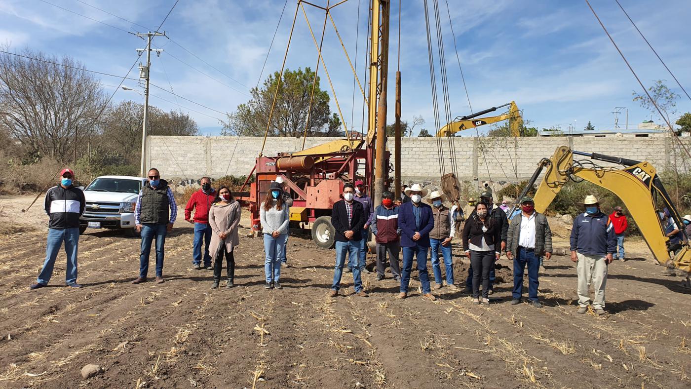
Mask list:
[[[50,276],[53,275],[57,253],[63,243],[67,253],[65,283],[68,287],[75,289],[82,287],[77,283],[77,246],[79,245],[79,216],[84,213],[86,199],[82,189],[72,184],[74,178],[75,172],[72,169],[62,169],[60,183],[46,192],[44,209],[50,218],[46,260],[36,283],[31,285],[32,290],[48,285]]]

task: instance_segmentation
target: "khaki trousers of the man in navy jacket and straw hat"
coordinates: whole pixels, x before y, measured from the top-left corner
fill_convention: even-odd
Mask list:
[[[590,303],[589,286],[593,285],[595,296],[593,309],[605,309],[605,285],[607,284],[607,260],[604,256],[576,253],[578,256],[578,305],[587,307]]]

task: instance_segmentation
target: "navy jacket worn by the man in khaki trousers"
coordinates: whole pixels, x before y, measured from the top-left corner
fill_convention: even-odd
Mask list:
[[[605,256],[616,252],[616,234],[609,217],[602,212],[576,216],[571,229],[571,251]]]

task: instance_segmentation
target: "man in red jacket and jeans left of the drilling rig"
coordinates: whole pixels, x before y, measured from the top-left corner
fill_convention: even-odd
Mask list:
[[[192,252],[192,264],[195,269],[213,270],[211,266],[211,256],[209,255],[209,243],[211,243],[211,226],[209,226],[209,209],[216,199],[216,190],[211,187],[211,180],[202,177],[200,180],[202,187],[189,198],[187,207],[184,207],[184,220],[194,225],[194,244]],[[194,218],[191,219],[192,210]],[[204,266],[202,262],[202,238],[204,239]]]

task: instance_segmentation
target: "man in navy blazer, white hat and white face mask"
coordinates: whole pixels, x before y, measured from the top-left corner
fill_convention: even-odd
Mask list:
[[[434,228],[432,207],[422,202],[427,190],[420,184],[406,188],[410,202],[404,202],[398,212],[398,226],[402,231],[401,248],[403,249],[403,270],[401,272],[401,292],[398,298],[408,296],[410,270],[413,269],[413,256],[417,258],[417,275],[422,283],[422,296],[434,301],[430,290],[430,277],[427,273],[427,254],[430,247],[430,231]]]

